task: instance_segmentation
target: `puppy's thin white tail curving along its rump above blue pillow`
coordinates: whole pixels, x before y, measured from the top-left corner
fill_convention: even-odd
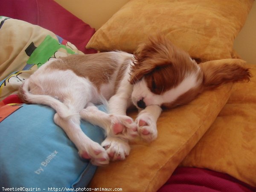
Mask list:
[[[53,108],[58,113],[58,115],[61,116],[61,118],[64,119],[74,115],[79,115],[79,113],[73,112],[67,107],[67,105],[52,96],[35,95],[29,92],[29,79],[20,86],[18,96],[24,103],[48,105],[49,107]]]

